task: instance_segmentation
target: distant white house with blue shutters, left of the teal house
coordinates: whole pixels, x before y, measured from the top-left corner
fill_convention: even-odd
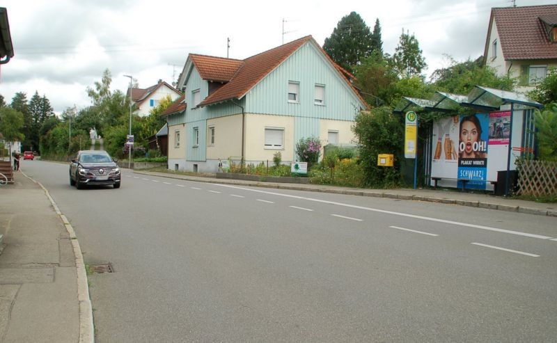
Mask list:
[[[127,94],[130,95],[130,88],[127,88]],[[145,117],[149,112],[159,106],[161,99],[170,96],[172,101],[180,97],[180,92],[170,86],[168,83],[159,80],[156,85],[148,88],[132,88],[132,103],[135,105],[137,115]]]

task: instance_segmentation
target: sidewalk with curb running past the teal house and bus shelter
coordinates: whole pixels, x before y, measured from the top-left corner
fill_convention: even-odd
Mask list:
[[[437,202],[450,205],[481,207],[501,211],[537,214],[540,216],[557,217],[557,204],[533,202],[490,196],[483,193],[461,192],[453,189],[356,189],[350,187],[328,186],[323,184],[286,184],[279,182],[255,182],[232,179],[216,179],[214,177],[197,177],[172,173],[155,173],[134,170],[136,174],[154,175],[179,180],[197,182],[212,182],[218,184],[235,184],[238,186],[257,186],[274,189],[292,189],[296,191],[313,191],[324,193],[338,193],[350,196],[371,196],[375,198],[393,198],[401,200],[416,200]]]

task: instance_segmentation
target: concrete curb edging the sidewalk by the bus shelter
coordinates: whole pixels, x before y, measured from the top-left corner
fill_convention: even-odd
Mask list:
[[[496,209],[499,211],[508,211],[508,212],[519,212],[524,214],[535,214],[538,216],[554,216],[557,217],[557,210],[547,210],[547,209],[535,209],[530,207],[520,207],[520,206],[513,206],[513,205],[501,205],[501,204],[494,204],[491,202],[483,202],[483,201],[471,201],[471,200],[456,200],[456,199],[447,199],[447,198],[437,198],[433,196],[417,196],[414,194],[398,194],[398,193],[389,193],[386,192],[377,192],[377,191],[359,191],[359,190],[347,190],[347,189],[330,189],[330,188],[321,188],[321,187],[311,187],[311,186],[304,186],[303,184],[266,184],[265,182],[249,182],[244,181],[242,182],[235,182],[231,179],[207,179],[207,178],[198,178],[195,176],[188,176],[188,175],[164,175],[164,173],[150,173],[150,172],[142,172],[139,170],[132,170],[133,173],[141,174],[141,175],[154,175],[159,177],[168,177],[169,179],[175,180],[189,180],[189,181],[196,181],[196,182],[205,182],[205,183],[212,183],[212,184],[235,184],[235,185],[242,185],[242,186],[254,186],[254,187],[262,187],[262,188],[272,188],[272,189],[289,189],[292,191],[311,191],[311,192],[322,192],[322,193],[335,193],[335,194],[345,194],[348,196],[370,196],[375,198],[390,198],[390,199],[400,199],[400,200],[414,200],[414,201],[426,201],[426,202],[437,202],[440,204],[448,204],[448,205],[459,205],[459,206],[468,206],[468,207],[480,207],[483,209]]]

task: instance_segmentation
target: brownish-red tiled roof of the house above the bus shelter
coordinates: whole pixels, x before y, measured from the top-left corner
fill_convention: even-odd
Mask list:
[[[492,8],[489,31],[494,20],[505,60],[557,58],[557,44],[549,40],[540,17],[556,19],[557,5]]]

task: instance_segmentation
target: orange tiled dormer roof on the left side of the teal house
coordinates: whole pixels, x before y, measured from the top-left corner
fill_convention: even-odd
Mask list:
[[[228,82],[244,61],[231,58],[190,54],[201,79]]]

